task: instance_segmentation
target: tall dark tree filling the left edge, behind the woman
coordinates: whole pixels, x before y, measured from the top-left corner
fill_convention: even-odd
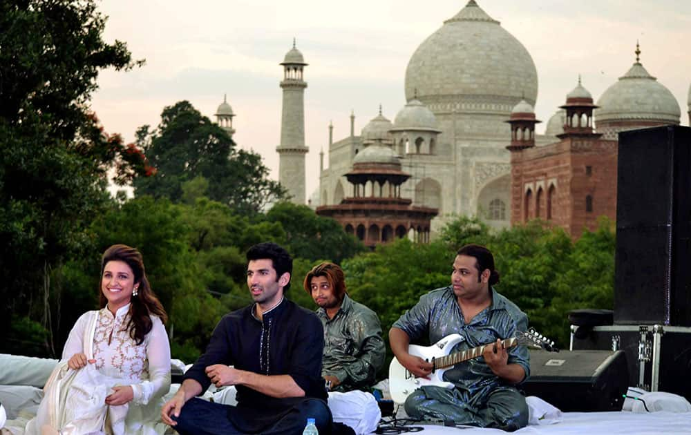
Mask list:
[[[106,170],[126,182],[149,169],[88,112],[100,70],[138,64],[124,43],[103,40],[104,26],[93,0],[0,3],[0,298],[12,325],[41,323],[53,355],[60,309],[50,305],[59,303],[51,278],[88,247],[85,229],[108,204]],[[21,336],[9,323],[0,316],[0,329]]]

